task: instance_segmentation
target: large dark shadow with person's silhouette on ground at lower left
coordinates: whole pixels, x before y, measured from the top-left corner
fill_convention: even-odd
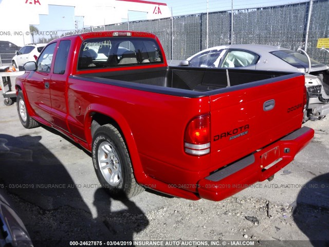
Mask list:
[[[41,136],[0,134],[0,184],[5,186],[34,246],[68,246],[68,241],[132,241],[149,221],[134,202],[111,211],[113,199],[98,188],[93,218],[69,173],[41,143]],[[86,181],[87,182],[87,181]],[[63,242],[64,241],[64,242]]]

